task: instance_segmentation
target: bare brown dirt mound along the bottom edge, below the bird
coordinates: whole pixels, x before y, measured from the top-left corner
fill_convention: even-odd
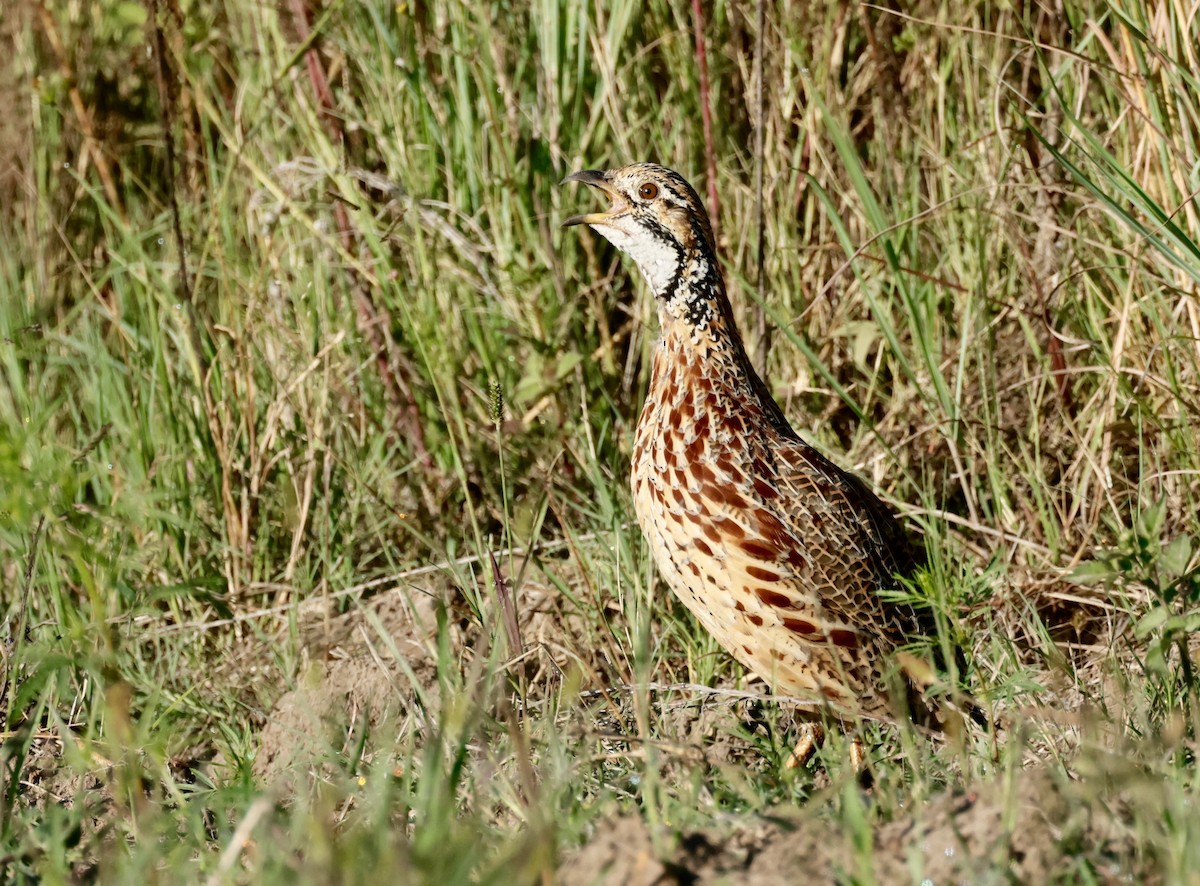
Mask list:
[[[768,810],[721,831],[660,834],[634,816],[602,821],[559,868],[564,884],[929,882],[1043,884],[1075,872],[1087,846],[1102,882],[1129,878],[1134,846],[1103,803],[1090,804],[1044,771],[948,791],[869,834],[818,814]],[[1140,879],[1138,882],[1146,882]]]

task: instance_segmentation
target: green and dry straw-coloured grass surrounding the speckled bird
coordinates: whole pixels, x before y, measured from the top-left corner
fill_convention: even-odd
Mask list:
[[[5,5],[5,879],[570,881],[618,814],[679,873],[794,809],[919,881],[880,834],[977,784],[997,840],[1070,798],[1040,881],[1200,875],[1195,5]],[[634,160],[715,184],[751,351],[1000,717],[864,728],[870,794],[839,736],[781,768],[631,523],[653,310],[557,182]],[[269,771],[350,617],[383,689]]]

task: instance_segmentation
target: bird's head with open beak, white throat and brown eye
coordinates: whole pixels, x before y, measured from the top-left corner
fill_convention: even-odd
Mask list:
[[[634,163],[604,172],[584,169],[563,179],[568,181],[600,191],[608,209],[571,216],[563,227],[595,228],[637,263],[660,299],[673,300],[683,286],[720,280],[708,214],[679,173]]]

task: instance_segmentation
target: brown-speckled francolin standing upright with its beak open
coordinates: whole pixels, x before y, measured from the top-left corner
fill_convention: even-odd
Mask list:
[[[931,633],[931,616],[880,592],[912,575],[924,551],[862,479],[796,432],[755,371],[695,188],[655,163],[583,169],[566,182],[608,205],[563,227],[607,239],[654,295],[659,337],[630,483],[659,575],[776,695],[842,724],[908,716],[922,681],[896,660]],[[818,717],[790,766],[820,744]],[[851,756],[858,768],[857,738]]]

